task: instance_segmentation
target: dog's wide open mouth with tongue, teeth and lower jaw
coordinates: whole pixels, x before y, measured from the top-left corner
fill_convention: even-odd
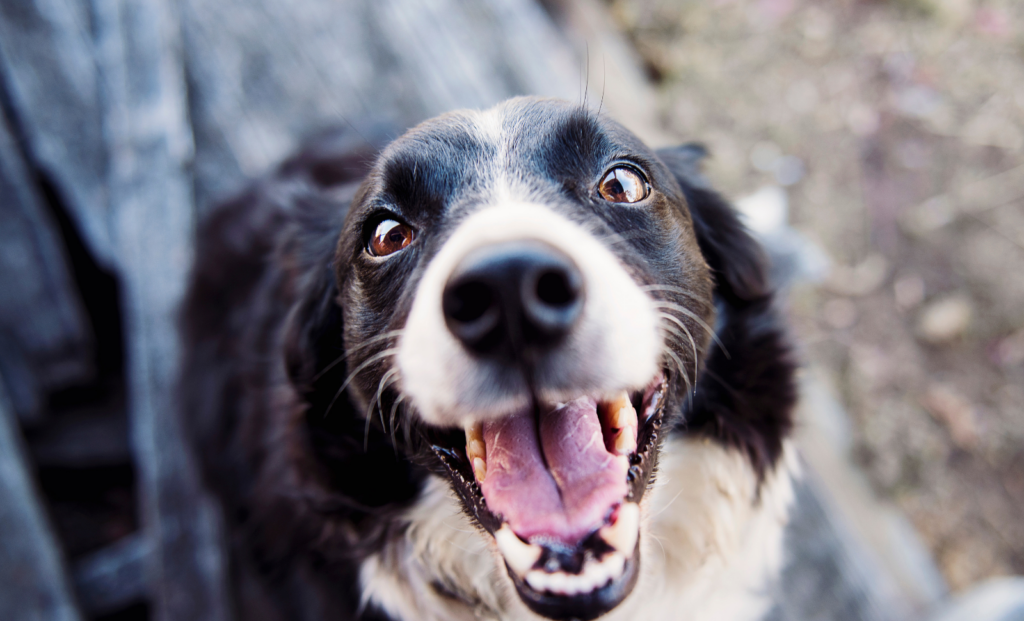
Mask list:
[[[434,445],[534,612],[594,619],[633,589],[666,385],[539,404]]]

